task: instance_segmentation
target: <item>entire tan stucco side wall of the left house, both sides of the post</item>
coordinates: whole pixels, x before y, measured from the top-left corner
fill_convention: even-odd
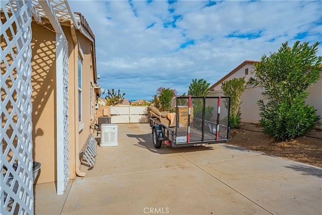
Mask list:
[[[52,29],[50,25],[48,28]],[[77,154],[85,144],[88,135],[93,132],[90,125],[95,120],[95,94],[93,90],[93,104],[91,101],[91,84],[94,84],[92,55],[90,41],[76,31],[77,39],[84,53],[83,61],[83,89],[82,89],[82,115],[84,128],[78,129],[78,68],[77,45],[74,46],[70,27],[63,26],[68,41],[68,69],[69,69],[69,178],[76,177],[75,161],[79,160]],[[33,102],[33,159],[41,163],[41,170],[37,183],[56,181],[56,53],[55,33],[44,26],[32,23],[32,102]],[[76,50],[74,50],[74,47]],[[91,116],[91,109],[92,115]],[[81,124],[82,124],[81,123]],[[78,143],[78,146],[76,144]],[[75,145],[76,144],[76,145]],[[75,149],[75,146],[77,149]]]

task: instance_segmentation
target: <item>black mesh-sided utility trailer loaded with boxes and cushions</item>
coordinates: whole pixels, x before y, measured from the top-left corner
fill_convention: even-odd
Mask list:
[[[230,97],[177,97],[175,123],[150,114],[153,145],[189,147],[229,140]],[[165,112],[161,112],[165,113]]]

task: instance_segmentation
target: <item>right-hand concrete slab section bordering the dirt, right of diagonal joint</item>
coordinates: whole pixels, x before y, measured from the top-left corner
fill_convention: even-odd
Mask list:
[[[198,166],[273,214],[322,213],[321,168],[268,155]]]

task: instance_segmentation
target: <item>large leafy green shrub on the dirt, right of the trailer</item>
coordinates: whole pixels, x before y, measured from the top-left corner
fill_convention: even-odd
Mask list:
[[[260,124],[265,133],[276,139],[291,139],[310,131],[319,124],[316,110],[305,104],[307,88],[321,75],[322,57],[317,56],[318,42],[288,42],[277,52],[265,54],[255,63],[251,86],[264,89],[264,100],[259,100]]]

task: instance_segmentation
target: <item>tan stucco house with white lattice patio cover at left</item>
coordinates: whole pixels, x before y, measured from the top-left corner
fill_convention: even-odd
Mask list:
[[[1,174],[0,194],[19,202],[19,213],[33,214],[33,161],[41,163],[36,183],[56,181],[57,194],[85,176],[79,152],[93,132],[100,95],[95,36],[67,1],[2,0],[1,20],[0,166],[8,174]],[[9,173],[25,184],[18,190],[24,199],[9,191]]]

